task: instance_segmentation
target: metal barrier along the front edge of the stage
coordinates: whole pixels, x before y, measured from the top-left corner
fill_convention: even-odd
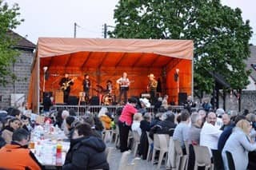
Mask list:
[[[174,113],[178,112],[178,109],[183,109],[183,105],[170,105],[171,111]],[[42,105],[41,105],[42,107]],[[74,111],[77,113],[77,116],[84,116],[84,115],[91,115],[91,114],[98,114],[99,110],[102,109],[102,107],[105,107],[108,109],[110,113],[115,113],[118,108],[122,108],[123,105],[54,105],[55,109],[74,109]],[[146,111],[148,113],[154,113],[154,106],[146,108]]]

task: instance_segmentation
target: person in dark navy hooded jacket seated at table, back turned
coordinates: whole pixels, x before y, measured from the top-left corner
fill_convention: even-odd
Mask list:
[[[94,136],[89,124],[77,125],[62,170],[110,169],[105,149],[106,144]]]

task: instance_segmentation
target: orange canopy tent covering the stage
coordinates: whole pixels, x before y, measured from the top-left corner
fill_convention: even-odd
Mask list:
[[[178,102],[178,92],[191,94],[193,89],[193,42],[190,40],[39,38],[34,57],[28,104],[38,113],[42,92],[55,92],[64,73],[77,77],[70,95],[82,91],[84,74],[91,79],[90,96],[97,85],[114,83],[126,72],[130,81],[129,96],[145,93],[150,73],[162,83],[162,95]],[[48,77],[44,79],[43,67]],[[179,69],[178,80],[174,73]],[[114,90],[118,96],[118,89]]]

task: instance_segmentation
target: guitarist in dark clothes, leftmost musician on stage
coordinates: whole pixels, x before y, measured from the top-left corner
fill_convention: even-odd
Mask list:
[[[70,85],[74,85],[74,79],[70,79],[69,74],[65,73],[65,77],[59,82],[61,89],[63,91],[64,103],[68,103],[70,97]]]

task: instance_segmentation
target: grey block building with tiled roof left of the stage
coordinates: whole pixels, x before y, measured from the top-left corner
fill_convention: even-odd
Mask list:
[[[0,108],[10,107],[10,105],[18,106],[22,101],[26,101],[34,49],[36,48],[33,42],[21,35],[13,31],[10,31],[9,34],[18,40],[14,49],[18,49],[20,53],[16,57],[16,61],[10,66],[10,71],[16,75],[17,80],[12,81],[5,87],[0,85]]]

